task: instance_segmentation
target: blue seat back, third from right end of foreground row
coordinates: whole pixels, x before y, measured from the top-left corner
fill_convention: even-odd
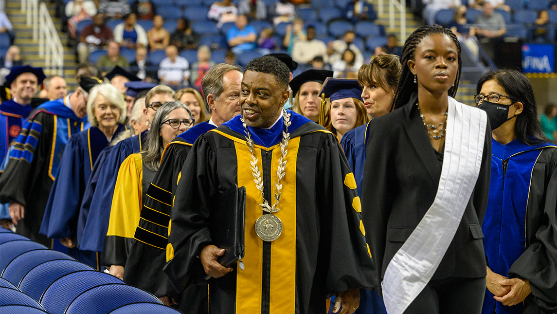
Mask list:
[[[96,270],[69,273],[51,283],[39,303],[50,313],[63,313],[81,293],[107,283],[124,284],[120,279]]]

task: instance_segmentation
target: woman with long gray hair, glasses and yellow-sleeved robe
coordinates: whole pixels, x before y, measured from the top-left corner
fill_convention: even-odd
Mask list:
[[[193,124],[192,113],[186,105],[164,103],[153,117],[143,151],[131,154],[120,166],[101,255],[102,265],[120,279],[124,276],[131,241],[139,224],[140,209],[149,197],[147,187],[159,168],[164,147]]]

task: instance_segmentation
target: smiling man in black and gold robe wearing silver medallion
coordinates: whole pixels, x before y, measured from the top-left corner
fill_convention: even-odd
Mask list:
[[[283,111],[288,81],[277,59],[252,60],[242,80],[243,119],[202,134],[182,168],[164,270],[178,291],[209,284],[209,313],[324,313],[335,294],[343,302],[336,310],[353,313],[354,289],[376,284],[354,176],[333,134]],[[245,256],[225,268],[209,225],[219,219],[212,215],[219,194],[235,184],[246,188]],[[256,232],[265,214],[280,219],[274,240]]]

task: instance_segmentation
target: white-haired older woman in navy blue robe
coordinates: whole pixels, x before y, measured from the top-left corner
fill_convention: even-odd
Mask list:
[[[126,118],[124,96],[110,84],[91,89],[87,100],[87,119],[91,128],[74,134],[68,141],[60,161],[56,181],[52,185],[40,232],[60,239],[68,253],[80,262],[99,269],[97,252],[76,248],[77,218],[93,165],[102,149],[121,131]]]

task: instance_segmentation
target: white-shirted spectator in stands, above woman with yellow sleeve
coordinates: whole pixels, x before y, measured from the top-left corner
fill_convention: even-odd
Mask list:
[[[159,80],[161,84],[179,89],[189,85],[189,62],[184,57],[178,56],[175,46],[167,47],[167,57],[160,61]]]

